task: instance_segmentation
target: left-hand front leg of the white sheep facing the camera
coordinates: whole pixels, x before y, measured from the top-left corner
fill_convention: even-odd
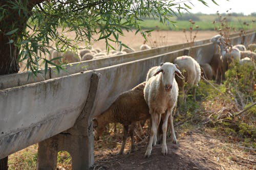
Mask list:
[[[151,124],[150,141],[148,142],[144,157],[149,158],[151,155],[153,139],[157,133],[157,118],[158,118],[158,115],[156,113],[155,114],[151,113],[152,124]]]

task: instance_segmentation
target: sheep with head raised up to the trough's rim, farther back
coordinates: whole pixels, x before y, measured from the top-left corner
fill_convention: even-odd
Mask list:
[[[210,39],[210,41],[214,45],[214,55],[211,58],[210,66],[212,69],[212,77],[218,82],[222,82],[223,78],[223,66],[221,61],[221,48],[220,48],[220,42],[224,41],[221,35],[214,36]]]

